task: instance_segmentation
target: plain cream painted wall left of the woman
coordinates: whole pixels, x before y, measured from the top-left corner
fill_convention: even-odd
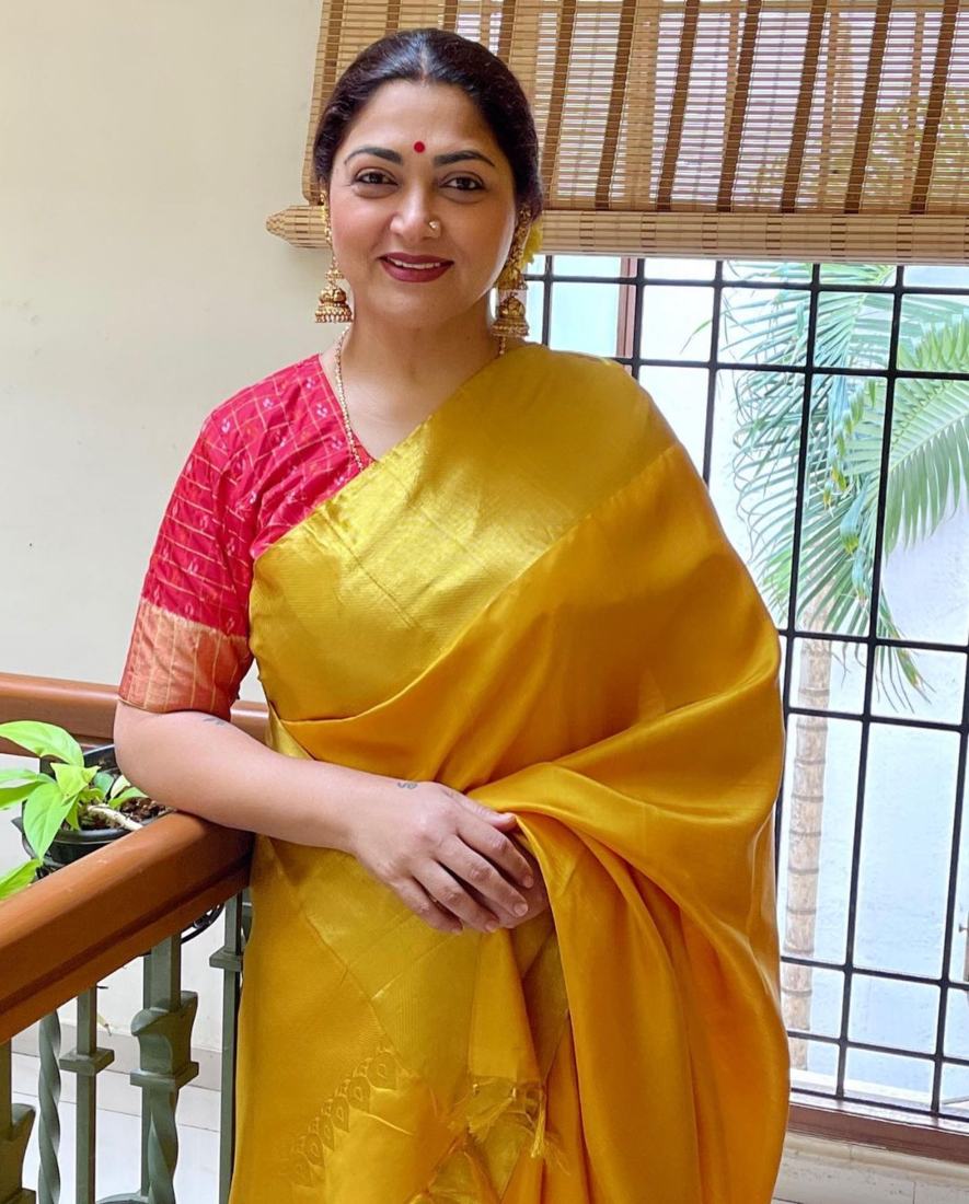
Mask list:
[[[203,417],[332,338],[325,258],[265,230],[301,199],[319,12],[0,6],[0,671],[117,683]]]

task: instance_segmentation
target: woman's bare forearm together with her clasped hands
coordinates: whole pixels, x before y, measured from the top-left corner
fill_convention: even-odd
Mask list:
[[[439,783],[283,756],[215,715],[123,702],[114,750],[124,775],[167,807],[355,856],[432,927],[513,928],[548,907],[538,863],[512,838],[515,818]]]

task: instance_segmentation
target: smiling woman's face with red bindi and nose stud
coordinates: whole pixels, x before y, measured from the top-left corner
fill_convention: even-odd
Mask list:
[[[333,157],[330,214],[358,311],[408,327],[441,325],[471,311],[504,265],[515,226],[512,167],[460,88],[395,79],[373,94]],[[388,259],[401,255],[448,266],[402,272]]]

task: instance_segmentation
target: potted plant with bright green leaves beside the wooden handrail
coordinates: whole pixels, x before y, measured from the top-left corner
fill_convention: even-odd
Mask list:
[[[0,808],[20,804],[13,822],[30,860],[0,875],[0,899],[167,808],[118,769],[114,745],[83,751],[63,727],[24,720],[0,724],[0,737],[40,757],[40,769],[0,769]]]

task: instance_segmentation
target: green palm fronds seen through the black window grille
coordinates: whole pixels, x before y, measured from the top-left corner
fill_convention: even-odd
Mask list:
[[[790,278],[792,265],[772,276]],[[803,278],[810,265],[794,265]],[[891,285],[886,265],[825,266],[825,283]],[[928,538],[969,496],[969,317],[961,297],[906,295],[898,325],[897,368],[932,373],[899,377],[885,445],[884,377],[826,368],[887,368],[891,293],[825,293],[813,344],[815,378],[805,400],[798,373],[738,373],[734,474],[740,514],[752,542],[751,568],[768,606],[786,622],[793,572],[796,484],[804,459],[804,509],[797,580],[797,621],[816,631],[864,637],[874,592],[875,529],[885,490],[882,557]],[[810,294],[779,287],[731,305],[725,293],[726,343],[744,361],[805,364]],[[805,415],[806,408],[806,415]],[[806,445],[802,431],[806,430]],[[882,473],[882,466],[885,472]],[[904,639],[884,589],[876,633]],[[875,685],[900,706],[926,685],[905,649],[880,648]],[[900,673],[899,673],[900,671]]]

